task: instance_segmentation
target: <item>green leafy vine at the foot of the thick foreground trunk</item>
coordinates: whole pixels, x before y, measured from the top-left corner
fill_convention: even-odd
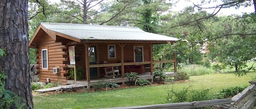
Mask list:
[[[0,73],[0,108],[12,108],[16,106],[17,108],[23,108],[24,104],[21,104],[22,99],[18,97],[15,93],[8,89],[5,89],[5,79],[7,76],[4,75],[4,71]]]

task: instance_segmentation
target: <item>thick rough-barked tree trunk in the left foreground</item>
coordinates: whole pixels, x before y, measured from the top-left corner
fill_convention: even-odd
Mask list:
[[[0,48],[7,54],[0,58],[0,70],[7,76],[5,88],[21,97],[25,108],[33,108],[27,14],[28,0],[0,2]]]

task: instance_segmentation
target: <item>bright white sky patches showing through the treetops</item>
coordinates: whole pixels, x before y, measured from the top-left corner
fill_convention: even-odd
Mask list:
[[[58,3],[59,1],[60,0],[50,0],[51,3],[54,3],[54,2]],[[166,0],[166,1],[175,1],[175,0]],[[198,4],[200,2],[201,2],[201,0],[180,0],[172,8],[172,11],[181,11],[189,5],[193,5],[193,3]],[[217,3],[220,3],[220,1],[218,0]],[[202,7],[212,7],[212,6],[215,6],[215,5],[216,4],[207,4],[207,5],[203,5]],[[209,13],[213,12],[212,9],[207,9],[206,11],[209,12]],[[243,12],[247,12],[247,13],[254,12],[254,7],[247,7],[247,8],[241,7],[239,9],[235,9],[235,8],[221,9],[221,11],[219,11],[217,15],[218,16],[223,16],[223,15],[228,16],[228,15],[233,15],[233,14],[242,15]]]

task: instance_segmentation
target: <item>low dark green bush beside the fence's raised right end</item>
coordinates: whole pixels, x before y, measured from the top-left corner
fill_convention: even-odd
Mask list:
[[[234,95],[242,92],[246,88],[247,88],[246,86],[223,88],[220,92],[215,93],[215,96],[217,99],[230,98],[230,97],[233,97]]]

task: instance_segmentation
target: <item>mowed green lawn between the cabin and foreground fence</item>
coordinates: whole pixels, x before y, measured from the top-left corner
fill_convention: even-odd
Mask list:
[[[172,87],[182,89],[191,87],[196,90],[211,88],[210,93],[222,88],[249,85],[256,73],[237,77],[234,73],[216,73],[190,76],[189,81],[158,86],[142,86],[114,89],[100,92],[76,92],[34,95],[34,108],[108,108],[136,105],[165,104],[167,92]]]

